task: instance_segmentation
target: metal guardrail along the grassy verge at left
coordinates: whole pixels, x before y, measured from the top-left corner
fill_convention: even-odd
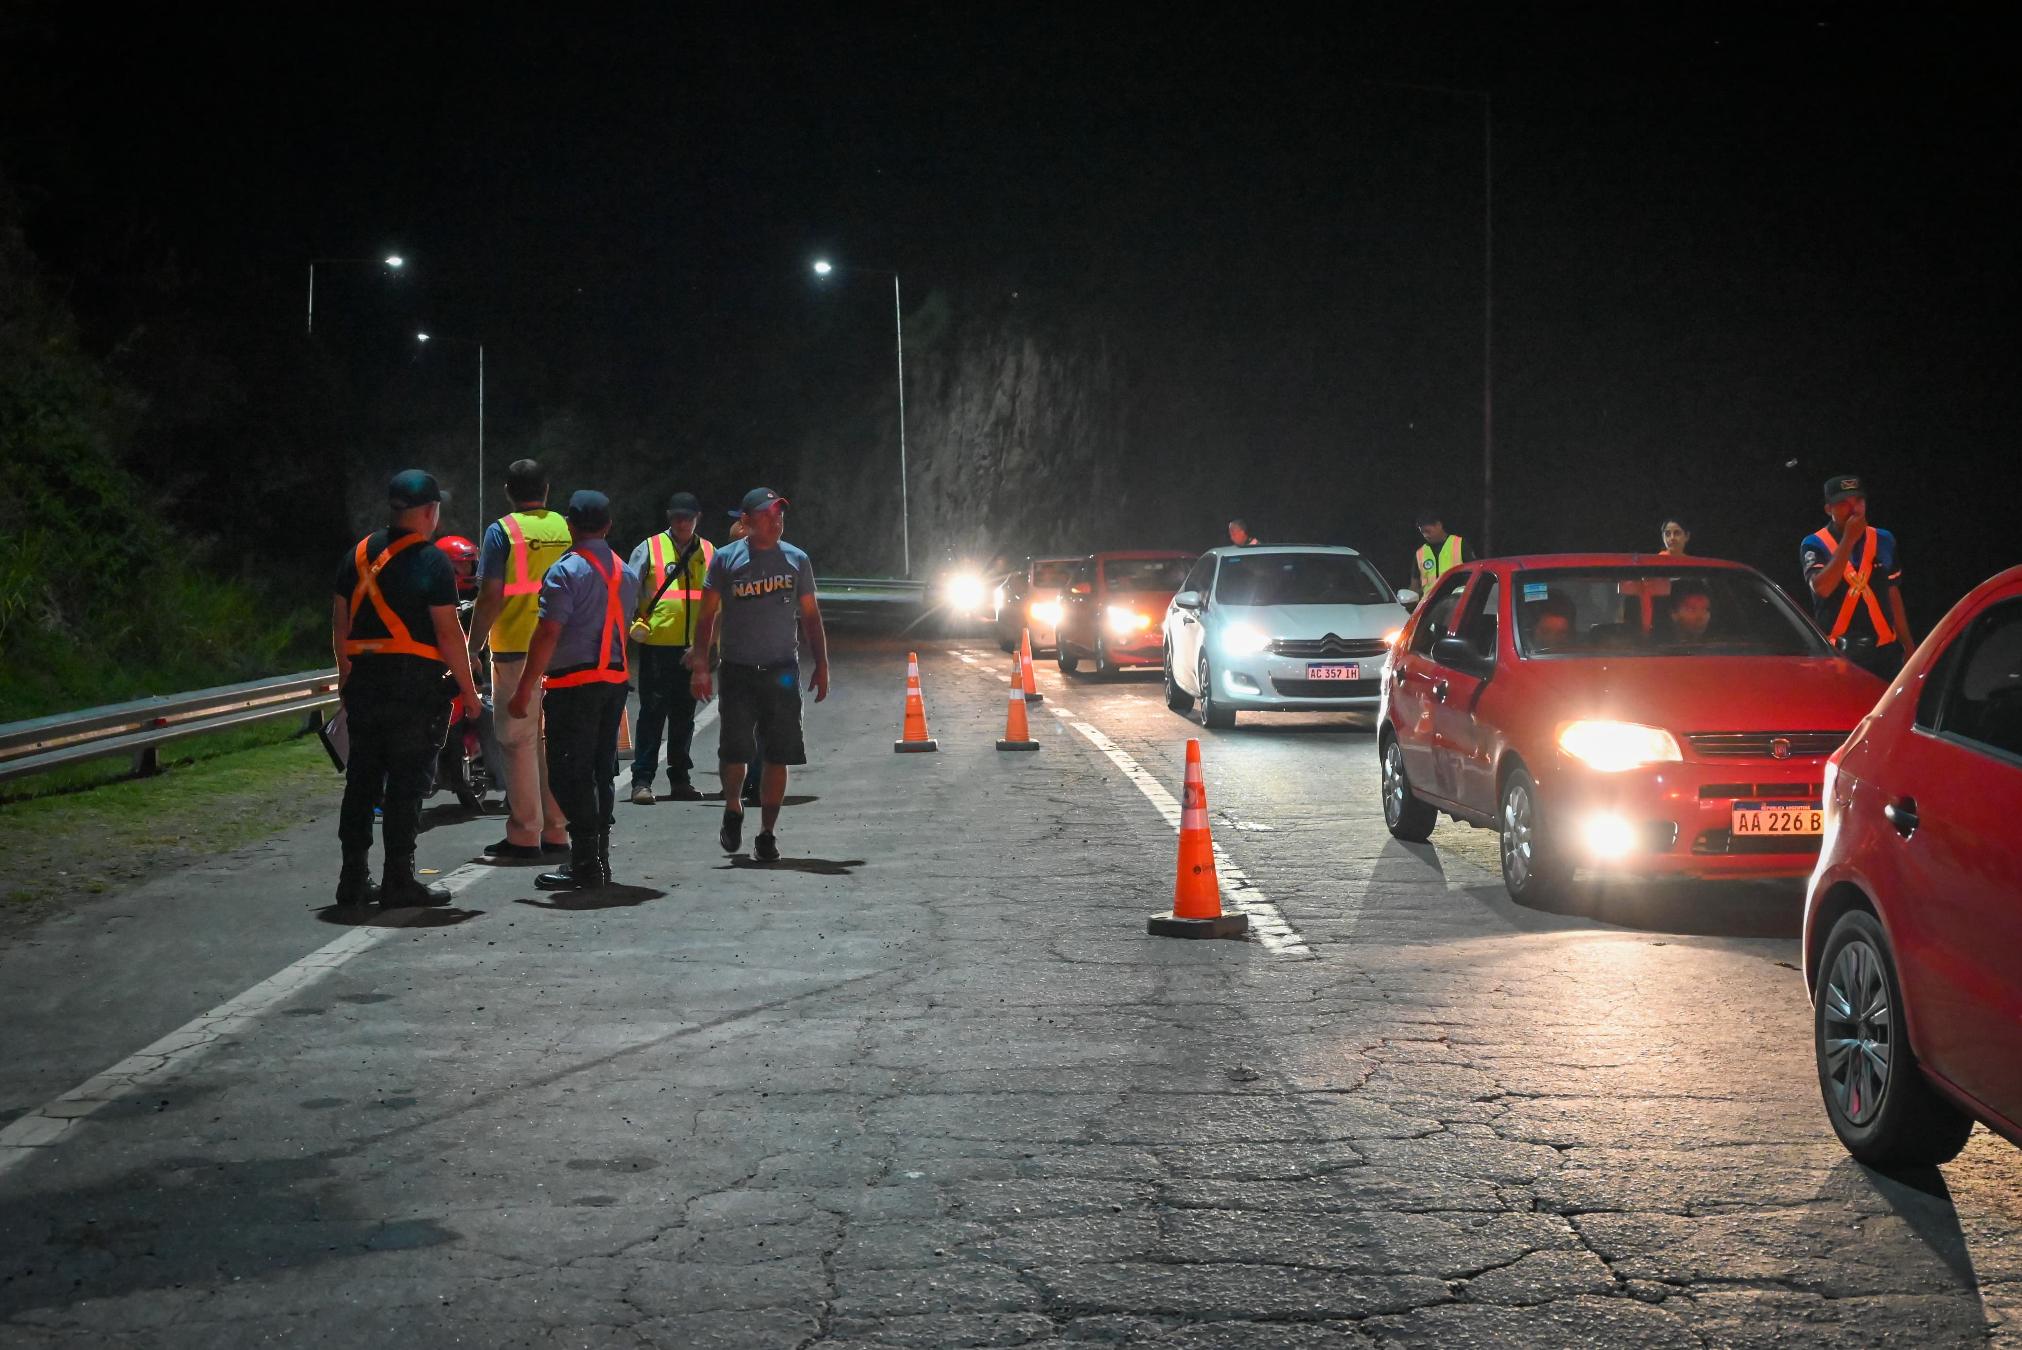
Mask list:
[[[0,782],[121,754],[133,756],[133,772],[150,774],[160,768],[158,748],[166,742],[287,715],[303,715],[315,726],[321,709],[336,701],[338,671],[332,667],[8,721],[0,724]]]

